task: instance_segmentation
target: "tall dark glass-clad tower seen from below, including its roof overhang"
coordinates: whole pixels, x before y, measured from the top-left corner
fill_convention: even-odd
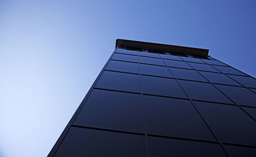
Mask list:
[[[256,156],[255,94],[206,49],[117,39],[49,156]]]

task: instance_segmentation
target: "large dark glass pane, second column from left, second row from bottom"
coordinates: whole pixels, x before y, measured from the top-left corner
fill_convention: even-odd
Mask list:
[[[144,95],[143,104],[147,133],[215,140],[189,100]]]

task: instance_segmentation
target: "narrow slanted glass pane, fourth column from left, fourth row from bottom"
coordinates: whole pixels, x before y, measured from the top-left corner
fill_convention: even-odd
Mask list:
[[[236,81],[233,81],[232,79],[230,79],[229,77],[221,73],[211,73],[211,72],[199,72],[199,73],[201,73],[206,79],[208,79],[212,83],[240,85]]]

